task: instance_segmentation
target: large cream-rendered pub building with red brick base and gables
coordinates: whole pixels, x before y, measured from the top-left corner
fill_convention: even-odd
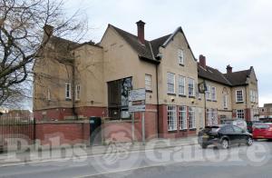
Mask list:
[[[136,24],[138,35],[108,25],[99,44],[51,36],[53,27],[45,26],[44,38],[50,41],[34,64],[34,117],[100,116],[109,123],[130,123],[128,92],[145,88],[147,138],[194,135],[205,124],[219,124],[222,119],[254,118],[253,67],[232,72],[228,66],[222,74],[206,65],[205,56],[196,59],[181,27],[148,41],[145,23]],[[199,93],[199,84],[205,84],[206,94]],[[141,130],[141,114],[133,116]]]

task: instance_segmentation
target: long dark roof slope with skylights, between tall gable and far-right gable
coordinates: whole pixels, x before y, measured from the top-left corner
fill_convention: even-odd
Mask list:
[[[208,79],[213,82],[217,82],[220,84],[232,85],[228,79],[224,76],[224,74],[220,73],[219,70],[214,69],[208,65],[206,65],[206,69],[200,66],[198,63],[198,74],[199,77]]]

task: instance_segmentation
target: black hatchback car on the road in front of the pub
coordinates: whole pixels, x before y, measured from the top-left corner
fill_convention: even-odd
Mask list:
[[[208,145],[213,144],[227,149],[230,144],[240,143],[251,145],[253,143],[252,134],[236,125],[207,126],[199,131],[199,144],[202,148],[207,148]]]

